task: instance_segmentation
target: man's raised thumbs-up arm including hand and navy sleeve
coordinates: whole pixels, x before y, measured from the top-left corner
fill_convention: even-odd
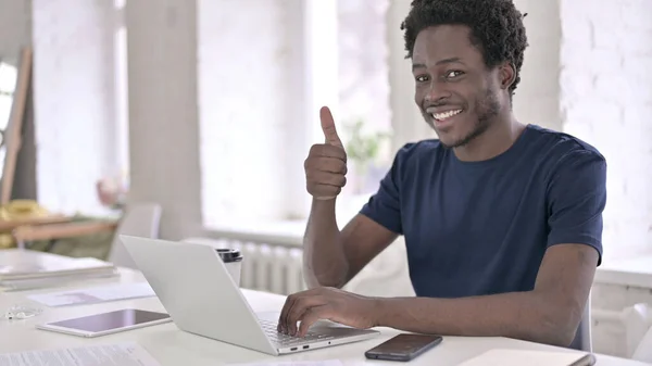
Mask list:
[[[314,199],[303,238],[303,277],[309,288],[341,288],[400,231],[398,187],[393,179],[397,167],[392,166],[363,213],[340,231],[335,206],[346,184],[347,153],[330,111],[323,108],[319,117],[326,143],[313,146],[304,164],[308,191]]]

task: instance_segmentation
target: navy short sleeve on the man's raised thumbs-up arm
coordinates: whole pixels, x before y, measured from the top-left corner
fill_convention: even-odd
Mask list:
[[[360,211],[390,231],[402,235],[401,223],[401,171],[406,159],[406,150],[412,144],[404,146],[394,156],[391,168],[380,180],[378,191],[372,195],[369,201]]]

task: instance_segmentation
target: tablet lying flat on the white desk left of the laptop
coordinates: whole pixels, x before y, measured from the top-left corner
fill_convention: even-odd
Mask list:
[[[40,324],[36,328],[79,337],[99,337],[172,321],[168,314],[123,308],[79,318]]]

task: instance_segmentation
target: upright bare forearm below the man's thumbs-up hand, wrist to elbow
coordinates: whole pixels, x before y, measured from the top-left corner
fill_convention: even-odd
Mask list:
[[[349,266],[335,216],[335,200],[313,200],[303,244],[303,272],[309,288],[341,287]]]

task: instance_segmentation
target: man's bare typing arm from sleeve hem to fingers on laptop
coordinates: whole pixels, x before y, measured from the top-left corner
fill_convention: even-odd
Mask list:
[[[302,337],[318,319],[329,319],[356,328],[384,326],[444,336],[510,337],[568,346],[581,319],[598,258],[598,251],[590,245],[550,247],[535,288],[525,292],[380,299],[312,289],[288,296],[278,329]]]

